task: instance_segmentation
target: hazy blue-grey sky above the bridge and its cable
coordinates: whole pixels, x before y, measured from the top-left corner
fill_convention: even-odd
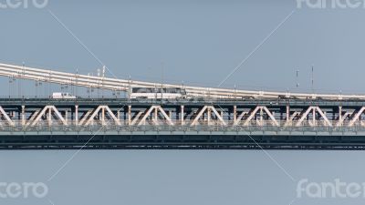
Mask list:
[[[365,9],[297,8],[295,0],[64,0],[2,9],[0,61],[95,75],[99,61],[51,12],[118,77],[160,82],[163,62],[164,81],[216,87],[293,10],[224,86],[310,90],[314,65],[319,92],[365,93]]]

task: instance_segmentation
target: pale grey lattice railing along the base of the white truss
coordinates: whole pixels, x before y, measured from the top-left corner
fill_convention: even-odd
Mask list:
[[[90,134],[104,133],[104,132],[117,132],[120,134],[128,134],[135,132],[211,132],[213,134],[221,134],[220,132],[296,132],[297,134],[304,132],[365,132],[365,127],[359,124],[353,127],[328,127],[328,126],[287,126],[287,127],[276,127],[276,126],[223,126],[223,125],[141,125],[141,126],[128,126],[128,125],[101,125],[94,124],[89,126],[76,126],[76,125],[47,125],[39,124],[36,126],[22,126],[22,125],[3,125],[0,127],[0,135],[13,133],[37,133],[37,132],[54,132],[54,133],[68,133],[68,132],[89,132]]]

